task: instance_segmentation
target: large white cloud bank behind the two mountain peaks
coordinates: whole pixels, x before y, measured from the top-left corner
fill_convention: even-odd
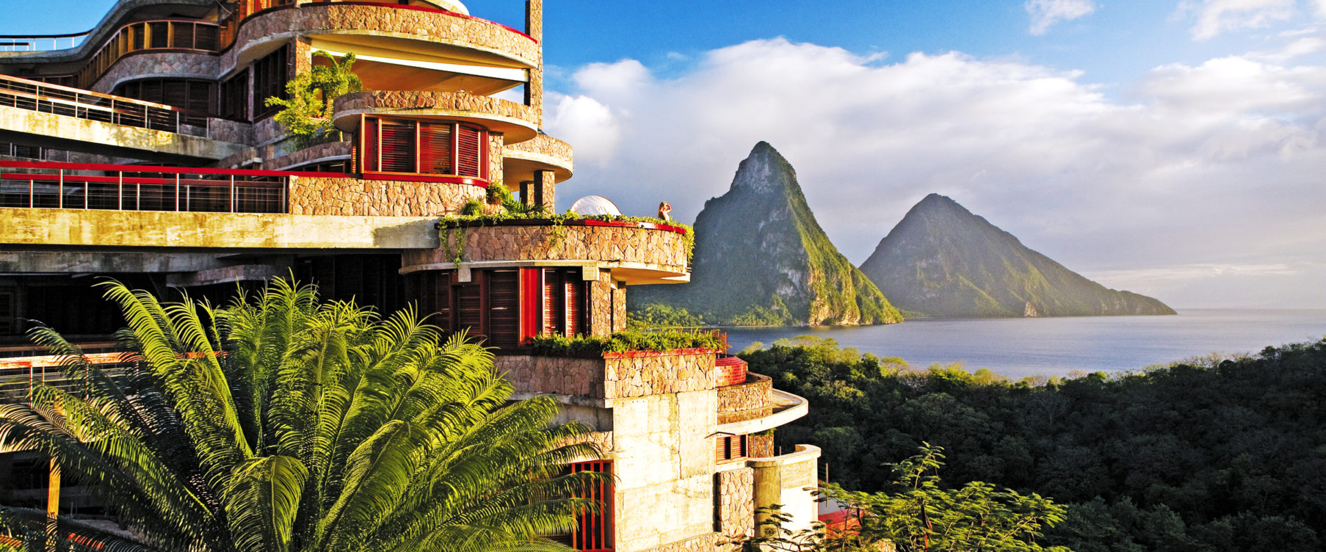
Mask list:
[[[626,65],[630,78],[577,73],[583,87],[549,102],[549,132],[577,148],[562,201],[599,193],[650,214],[668,200],[693,220],[768,140],[858,263],[939,192],[1074,270],[1285,265],[1299,273],[1237,281],[1326,281],[1321,265],[1298,269],[1326,258],[1326,68],[1253,56],[1166,65],[1118,101],[1075,71],[961,53],[880,64],[764,40],[699,60],[672,79]],[[631,86],[603,85],[622,81]],[[1152,286],[1132,282],[1111,285]],[[1209,295],[1176,286],[1152,287]]]

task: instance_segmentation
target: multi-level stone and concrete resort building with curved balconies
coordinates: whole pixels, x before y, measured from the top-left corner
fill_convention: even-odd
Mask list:
[[[723,548],[769,504],[809,526],[819,451],[772,436],[805,400],[725,351],[528,347],[622,331],[629,286],[690,271],[666,224],[455,218],[491,184],[553,210],[572,177],[572,147],[544,134],[542,0],[522,26],[451,0],[119,0],[86,33],[0,37],[0,379],[54,377],[32,320],[118,360],[95,277],[224,298],[293,274],[329,299],[438,312],[496,347],[522,396],[594,428],[603,458],[578,467],[615,483],[566,536],[578,549]],[[294,139],[267,98],[347,53],[363,91],[335,98],[338,132]],[[0,500],[97,519],[45,469],[0,454]]]

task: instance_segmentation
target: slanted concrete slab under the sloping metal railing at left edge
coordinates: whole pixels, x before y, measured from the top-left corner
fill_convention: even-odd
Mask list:
[[[69,115],[0,106],[0,138],[20,136],[23,143],[77,151],[105,152],[160,160],[225,159],[243,144],[191,136],[180,132],[80,119]],[[8,138],[5,138],[8,140]]]

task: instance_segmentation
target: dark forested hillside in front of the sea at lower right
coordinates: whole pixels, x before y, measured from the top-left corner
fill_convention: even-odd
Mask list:
[[[1326,541],[1326,340],[1138,373],[1045,381],[908,368],[802,338],[744,352],[804,396],[777,432],[823,447],[829,479],[878,491],[884,462],[943,446],[944,481],[1069,504],[1045,544],[1075,552],[1317,551]]]

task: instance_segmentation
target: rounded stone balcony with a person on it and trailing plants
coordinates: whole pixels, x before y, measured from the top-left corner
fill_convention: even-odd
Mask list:
[[[690,281],[686,230],[667,225],[586,218],[497,222],[443,221],[442,246],[407,252],[402,273],[509,266],[607,269],[636,283]],[[456,263],[459,258],[459,266]]]

